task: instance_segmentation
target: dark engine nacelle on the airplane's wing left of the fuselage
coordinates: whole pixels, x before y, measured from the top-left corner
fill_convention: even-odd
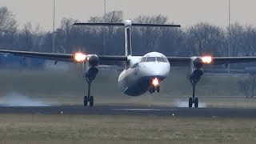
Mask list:
[[[84,62],[83,76],[88,78],[90,81],[94,80],[98,74],[98,55],[88,55],[88,60]]]

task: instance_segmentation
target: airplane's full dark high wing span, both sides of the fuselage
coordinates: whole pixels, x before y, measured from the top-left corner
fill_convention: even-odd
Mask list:
[[[17,51],[17,50],[0,50],[3,54],[14,54],[22,57],[29,58],[42,58],[60,62],[78,62],[75,60],[75,54],[57,54],[57,53],[42,53],[33,51]],[[91,54],[87,56],[90,57]],[[189,66],[191,57],[167,57],[172,66]],[[116,55],[98,55],[99,64],[117,65],[127,61],[126,56]],[[210,65],[222,65],[229,63],[244,63],[244,62],[256,62],[256,57],[212,57]]]

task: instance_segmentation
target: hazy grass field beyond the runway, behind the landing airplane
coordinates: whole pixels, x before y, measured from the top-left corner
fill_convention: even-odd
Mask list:
[[[35,100],[65,105],[82,104],[86,94],[86,81],[79,66],[70,71],[0,71],[0,98],[11,93],[26,95]],[[140,97],[126,96],[118,90],[119,72],[100,71],[92,85],[96,105],[143,105],[176,106],[178,101],[187,102],[191,96],[186,70],[174,69],[161,85],[161,93],[146,93]],[[204,75],[198,83],[196,95],[207,106],[255,107],[255,99],[246,99],[239,90],[238,81],[246,76]],[[1,100],[1,99],[0,99]]]

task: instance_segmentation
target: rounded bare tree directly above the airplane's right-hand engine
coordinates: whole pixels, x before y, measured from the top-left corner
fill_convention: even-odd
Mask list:
[[[199,23],[186,31],[186,51],[190,55],[213,54],[225,55],[225,33],[218,26]]]

